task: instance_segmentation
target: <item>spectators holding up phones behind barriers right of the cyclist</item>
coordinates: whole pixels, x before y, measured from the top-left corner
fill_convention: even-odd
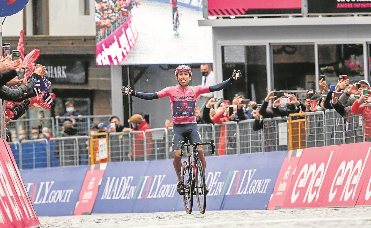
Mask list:
[[[305,94],[303,99],[298,99],[295,94],[276,90],[269,92],[259,104],[255,101],[246,101],[242,92],[237,93],[231,103],[225,100],[216,102],[216,98],[211,98],[207,102],[202,115],[200,109],[196,107],[196,120],[198,124],[219,124],[228,121],[238,122],[255,119],[253,130],[258,131],[263,129],[264,118],[288,117],[292,113],[325,112],[326,109],[335,109],[336,112],[345,117],[345,108],[351,107],[352,113],[364,114],[364,123],[360,124],[365,125],[365,138],[371,138],[371,106],[365,106],[365,104],[371,103],[370,83],[366,80],[350,83],[349,79],[344,76],[340,75],[338,83],[332,86],[328,85],[324,76],[322,76],[319,81],[319,90],[303,91]],[[304,117],[301,115],[293,117],[293,119],[302,118]],[[170,120],[165,121],[166,128],[172,126]],[[223,125],[219,131],[218,155],[226,154],[225,145],[235,142],[235,135],[229,135],[227,127]]]

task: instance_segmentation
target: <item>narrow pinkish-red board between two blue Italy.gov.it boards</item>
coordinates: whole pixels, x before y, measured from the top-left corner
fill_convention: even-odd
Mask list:
[[[73,215],[91,214],[106,167],[107,163],[95,164],[86,171]]]

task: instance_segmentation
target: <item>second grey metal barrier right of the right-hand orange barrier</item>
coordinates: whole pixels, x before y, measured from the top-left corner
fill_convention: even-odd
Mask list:
[[[344,119],[335,109],[325,111],[326,146],[345,142]]]

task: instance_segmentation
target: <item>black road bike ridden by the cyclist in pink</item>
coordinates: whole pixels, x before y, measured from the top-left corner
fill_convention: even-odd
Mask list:
[[[181,153],[180,156],[183,156],[183,147],[187,146],[187,160],[183,162],[181,175],[183,178],[184,191],[183,203],[184,208],[187,214],[191,214],[193,206],[193,195],[196,195],[198,210],[201,214],[205,213],[206,209],[206,182],[205,182],[205,173],[201,164],[200,159],[198,158],[197,146],[200,145],[211,145],[212,152],[215,153],[214,139],[211,139],[210,143],[192,143],[185,144],[183,141],[181,143]],[[190,152],[188,146],[192,146],[193,150]]]

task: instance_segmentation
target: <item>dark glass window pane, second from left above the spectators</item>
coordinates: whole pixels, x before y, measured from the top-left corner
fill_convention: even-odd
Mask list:
[[[273,88],[315,89],[314,45],[272,45]]]

